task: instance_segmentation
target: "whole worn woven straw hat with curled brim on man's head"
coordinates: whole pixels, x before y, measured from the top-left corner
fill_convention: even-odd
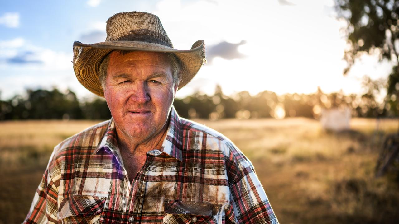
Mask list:
[[[83,86],[98,96],[104,96],[98,79],[99,66],[112,50],[174,53],[181,65],[179,89],[185,86],[206,62],[203,40],[196,41],[190,50],[176,50],[158,16],[147,12],[117,13],[107,20],[107,38],[104,42],[73,43],[75,75]]]

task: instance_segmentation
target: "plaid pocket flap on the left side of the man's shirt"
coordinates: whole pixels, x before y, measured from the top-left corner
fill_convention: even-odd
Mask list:
[[[59,219],[68,216],[95,216],[103,210],[107,197],[91,195],[73,195],[64,198],[59,206],[57,217]]]

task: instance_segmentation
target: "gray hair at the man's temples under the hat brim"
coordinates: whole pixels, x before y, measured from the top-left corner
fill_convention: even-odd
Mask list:
[[[131,52],[131,51],[125,51],[125,50],[114,50],[114,51],[117,51],[117,53],[119,55],[125,55],[126,53]],[[103,90],[105,90],[105,80],[107,79],[107,70],[108,70],[111,52],[108,53],[107,56],[105,56],[103,61],[100,63],[100,67],[99,67],[99,81],[101,83],[101,86],[103,87]],[[176,85],[178,86],[180,83],[180,77],[179,77],[180,61],[174,53],[164,53],[164,54],[166,55],[166,58],[170,64],[170,66],[172,67],[173,84],[174,84],[174,86],[176,86]]]

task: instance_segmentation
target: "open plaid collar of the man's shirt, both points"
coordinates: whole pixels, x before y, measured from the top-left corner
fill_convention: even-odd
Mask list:
[[[166,133],[166,138],[162,143],[162,147],[160,149],[153,149],[150,151],[159,151],[159,153],[150,153],[153,155],[166,153],[179,161],[183,160],[182,156],[182,145],[183,145],[183,130],[182,130],[182,123],[180,120],[179,115],[176,112],[174,106],[170,110],[169,114],[169,126],[168,131]],[[96,154],[100,150],[105,150],[107,153],[110,150],[116,151],[118,150],[118,143],[117,143],[117,132],[115,129],[115,121],[111,118],[107,131],[103,139],[101,140],[100,144],[97,146],[96,150],[93,154]]]

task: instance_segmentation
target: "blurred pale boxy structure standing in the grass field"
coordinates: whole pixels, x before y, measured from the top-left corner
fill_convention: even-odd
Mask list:
[[[342,131],[350,128],[351,118],[350,108],[330,108],[322,109],[320,123],[326,130]]]

